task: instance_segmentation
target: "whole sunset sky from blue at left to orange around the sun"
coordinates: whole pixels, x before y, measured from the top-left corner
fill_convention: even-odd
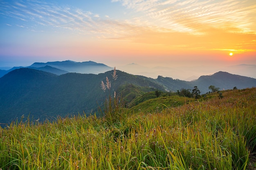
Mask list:
[[[182,79],[255,65],[256,1],[0,0],[0,67],[64,60]]]

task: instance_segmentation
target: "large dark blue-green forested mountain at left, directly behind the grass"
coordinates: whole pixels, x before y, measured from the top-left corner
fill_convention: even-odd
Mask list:
[[[7,123],[30,114],[34,119],[54,119],[58,115],[87,113],[103,104],[106,95],[113,94],[119,86],[134,84],[161,89],[154,79],[117,71],[117,81],[111,81],[112,90],[104,93],[101,81],[112,77],[106,73],[67,73],[55,75],[31,68],[19,68],[0,78],[0,123]]]

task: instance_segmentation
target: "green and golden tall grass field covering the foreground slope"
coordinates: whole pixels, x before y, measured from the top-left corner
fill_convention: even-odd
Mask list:
[[[0,170],[255,170],[256,88],[159,113],[0,128]]]

